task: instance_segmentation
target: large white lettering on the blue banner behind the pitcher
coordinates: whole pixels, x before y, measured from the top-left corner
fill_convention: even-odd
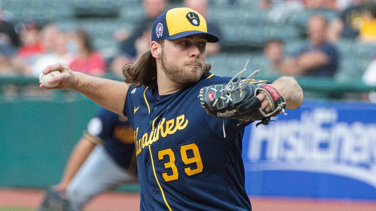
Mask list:
[[[251,171],[334,173],[376,188],[376,124],[338,122],[334,109],[303,112],[300,120],[251,129]]]

